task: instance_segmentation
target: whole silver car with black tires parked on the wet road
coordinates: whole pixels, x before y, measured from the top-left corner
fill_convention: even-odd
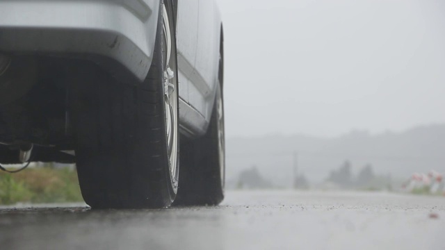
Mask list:
[[[213,0],[0,0],[0,163],[76,163],[92,208],[218,204],[223,52]]]

